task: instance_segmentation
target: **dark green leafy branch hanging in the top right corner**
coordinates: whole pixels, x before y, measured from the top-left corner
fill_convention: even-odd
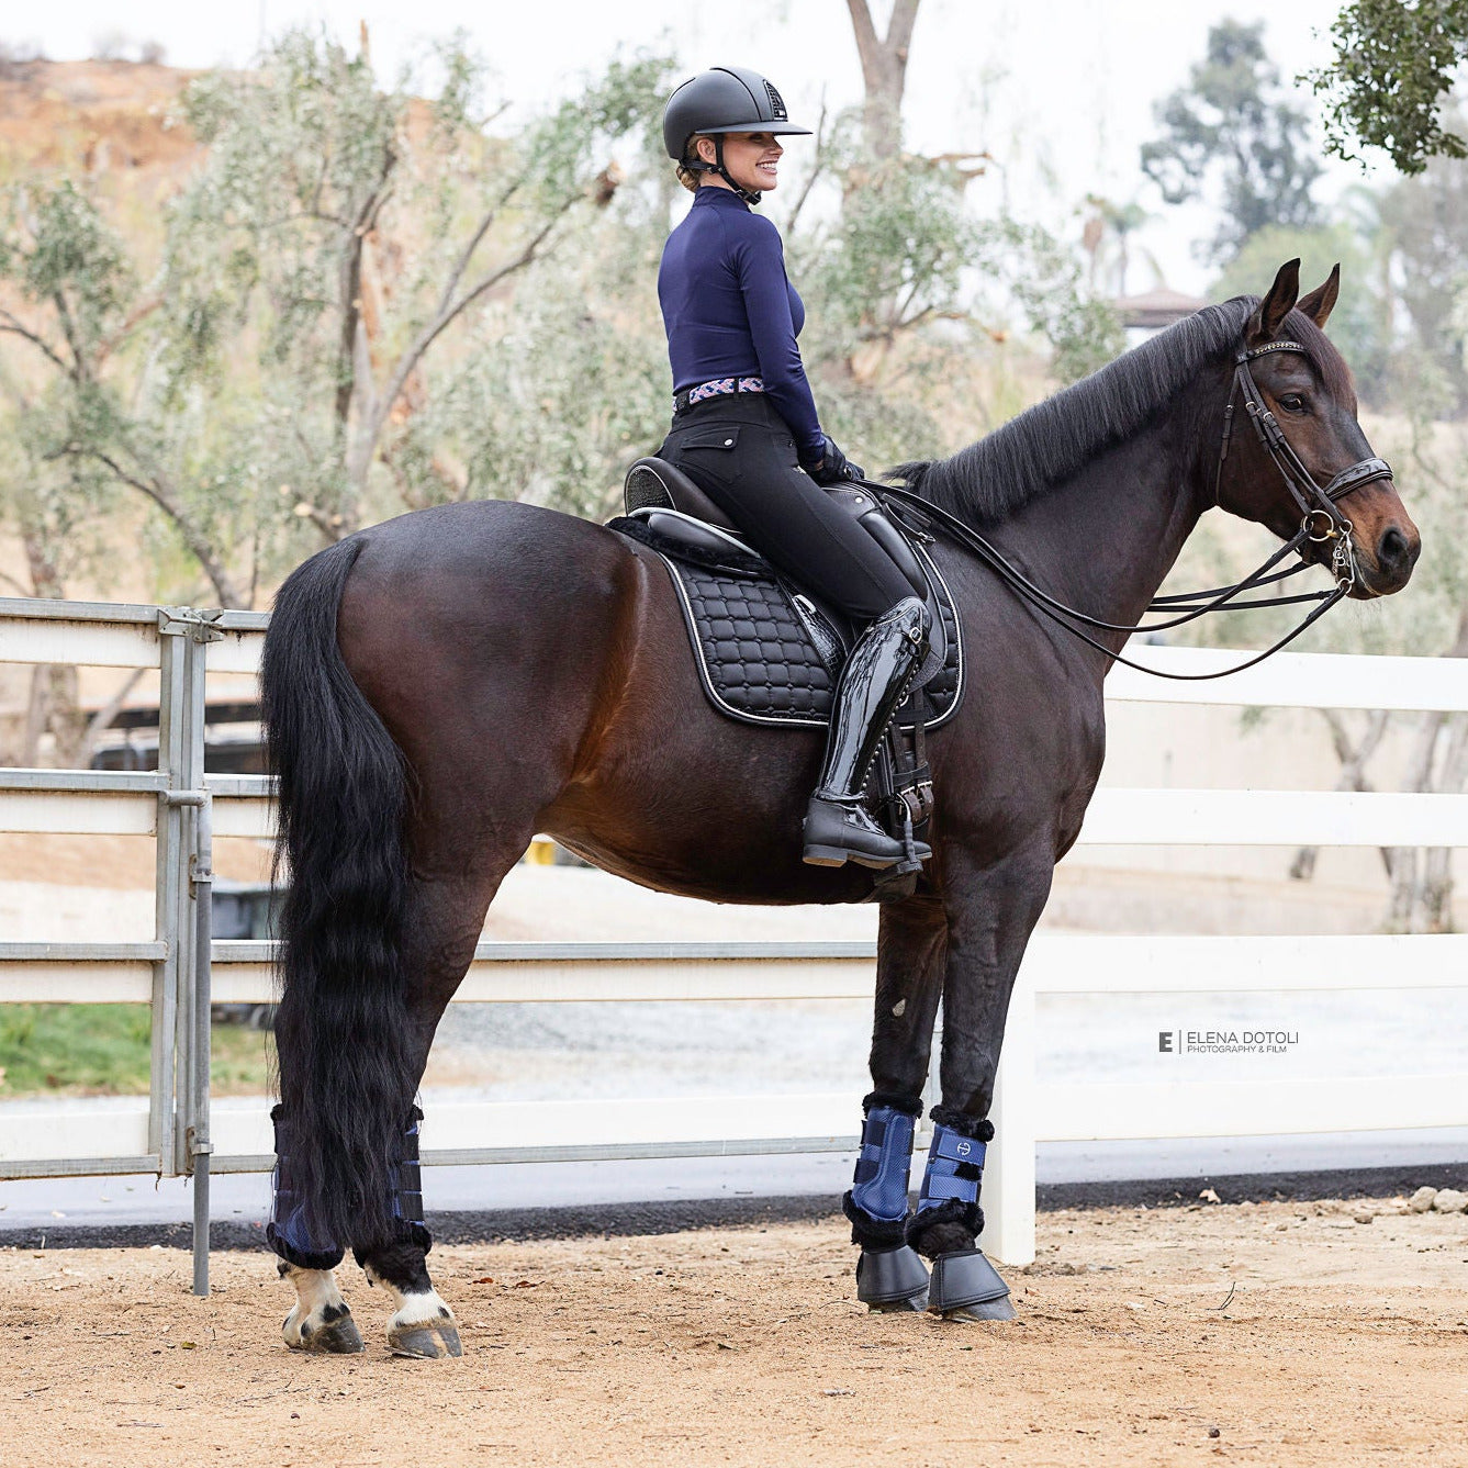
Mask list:
[[[1309,73],[1327,103],[1326,144],[1343,159],[1386,150],[1402,173],[1468,157],[1445,106],[1468,59],[1468,0],[1352,0],[1330,26],[1336,56]]]

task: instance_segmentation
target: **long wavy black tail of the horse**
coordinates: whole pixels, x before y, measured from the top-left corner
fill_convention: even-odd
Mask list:
[[[261,703],[279,780],[276,1016],[294,1182],[317,1246],[392,1238],[390,1189],[417,1085],[402,934],[402,752],[336,642],[342,587],[363,542],[298,567],[266,636]]]

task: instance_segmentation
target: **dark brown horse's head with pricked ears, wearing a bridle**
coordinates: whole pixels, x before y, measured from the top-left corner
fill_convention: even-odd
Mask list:
[[[1406,586],[1422,537],[1390,471],[1373,458],[1351,370],[1321,330],[1339,289],[1336,266],[1301,297],[1299,261],[1290,260],[1249,316],[1232,367],[1217,502],[1286,540],[1308,520],[1308,561],[1343,565],[1337,550],[1349,531],[1351,595],[1365,599]]]

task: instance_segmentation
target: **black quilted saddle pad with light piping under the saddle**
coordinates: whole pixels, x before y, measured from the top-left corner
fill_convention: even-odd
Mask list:
[[[769,573],[765,562],[703,565],[640,520],[614,520],[621,530],[655,550],[678,593],[699,680],[709,702],[746,724],[825,728],[844,661],[840,636],[821,611]],[[910,728],[915,705],[925,705],[925,724],[935,728],[953,716],[963,694],[963,649],[953,593],[925,548],[915,546],[938,590],[948,631],[948,656],[898,722]],[[728,558],[743,561],[737,553]]]

